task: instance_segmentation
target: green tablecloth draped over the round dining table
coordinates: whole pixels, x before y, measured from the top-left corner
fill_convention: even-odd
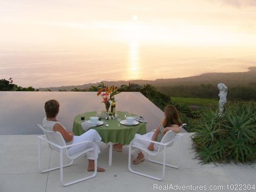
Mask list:
[[[90,119],[90,117],[95,116],[96,112],[88,112],[84,113],[85,120]],[[73,123],[73,133],[75,135],[81,135],[85,131],[81,126],[81,115],[79,114],[74,118]],[[135,114],[129,114],[129,116],[135,116]],[[124,119],[124,115],[121,112],[121,118]],[[104,143],[112,142],[112,143],[121,143],[122,145],[129,145],[131,140],[134,138],[135,133],[145,134],[146,133],[146,123],[139,123],[138,125],[133,126],[118,126],[117,119],[106,120],[109,124],[108,127],[92,127],[91,129],[96,130],[100,137],[101,141]]]

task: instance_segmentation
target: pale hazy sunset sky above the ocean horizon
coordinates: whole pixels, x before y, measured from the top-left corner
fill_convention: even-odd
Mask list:
[[[1,0],[0,47],[255,45],[255,13],[254,0]]]

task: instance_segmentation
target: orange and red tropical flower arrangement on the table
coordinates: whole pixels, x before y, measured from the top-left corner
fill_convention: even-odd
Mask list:
[[[103,98],[103,103],[105,103],[105,107],[106,107],[106,111],[108,112],[109,107],[112,103],[112,101],[114,100],[115,102],[117,101],[114,98],[114,95],[121,93],[121,92],[117,92],[117,87],[115,85],[109,87],[109,86],[105,86],[103,83],[101,85],[101,89],[98,91],[97,96],[101,95],[101,97]],[[105,91],[105,92],[103,92]]]

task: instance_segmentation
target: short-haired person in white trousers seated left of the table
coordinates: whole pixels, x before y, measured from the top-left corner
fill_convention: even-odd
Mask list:
[[[45,102],[44,109],[46,113],[46,117],[43,119],[43,126],[45,129],[49,131],[58,131],[62,135],[63,139],[65,139],[67,145],[71,145],[74,143],[82,142],[82,141],[91,141],[95,143],[97,146],[98,154],[100,153],[99,142],[101,141],[101,137],[95,130],[89,130],[80,136],[75,136],[71,132],[67,132],[66,128],[57,121],[57,115],[59,113],[60,104],[57,100],[49,100]],[[79,151],[85,150],[87,147],[91,147],[90,143],[84,143],[83,145],[77,145],[70,147],[68,149],[69,155],[74,155],[79,153]],[[89,151],[86,153],[88,158],[88,168],[87,171],[94,171],[94,152]],[[97,156],[98,158],[98,156]],[[103,172],[105,169],[98,167],[97,171]]]

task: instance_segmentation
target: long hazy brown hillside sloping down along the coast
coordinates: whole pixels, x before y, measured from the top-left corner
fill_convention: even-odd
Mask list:
[[[39,91],[49,89],[51,91],[66,90],[71,91],[72,89],[88,89],[91,86],[97,86],[100,82],[89,83],[84,85],[70,85],[60,87],[45,87],[39,88]],[[136,83],[139,85],[150,84],[155,87],[161,86],[177,86],[177,85],[201,85],[201,84],[212,84],[225,83],[228,87],[233,86],[247,86],[250,83],[256,84],[256,67],[250,67],[249,71],[237,72],[237,73],[206,73],[197,76],[183,77],[183,78],[168,78],[168,79],[156,79],[150,80],[131,80],[131,81],[105,81],[106,85],[128,85],[129,83]]]

